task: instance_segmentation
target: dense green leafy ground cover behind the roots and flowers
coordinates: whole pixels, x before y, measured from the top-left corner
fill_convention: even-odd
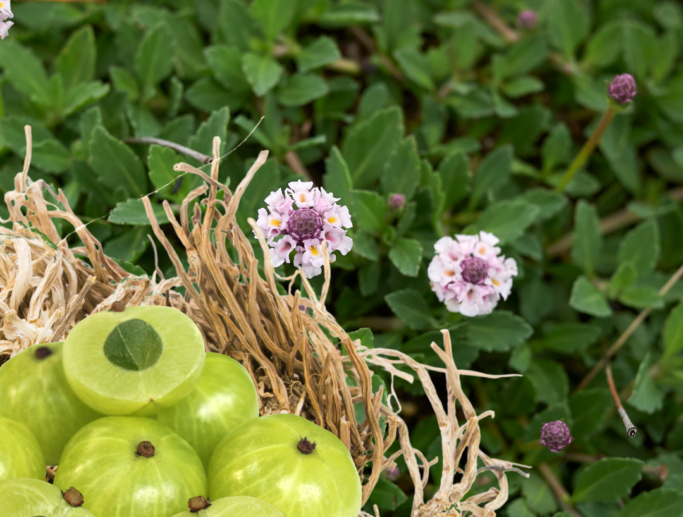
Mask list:
[[[226,154],[264,117],[220,168],[235,187],[260,150],[271,153],[240,205],[245,232],[271,191],[313,181],[353,218],[353,250],[333,264],[327,299],[345,328],[360,329],[366,346],[435,365],[429,344],[447,328],[458,367],[523,374],[464,382],[480,411],[496,412],[482,421],[483,449],[534,467],[528,479],[508,476],[504,514],[683,515],[679,3],[159,0],[12,9],[15,24],[0,42],[3,192],[22,169],[30,124],[32,178],[63,189],[108,255],[151,274],[139,198],[156,191],[159,217],[163,201],[178,213],[201,181],[178,178],[173,164],[203,164],[140,139],[211,155],[220,136]],[[537,13],[535,23],[518,20],[524,9]],[[635,77],[635,101],[566,176],[622,73]],[[468,318],[439,302],[427,270],[439,238],[478,231],[495,234],[519,271],[492,314]],[[159,263],[171,269],[163,254]],[[638,429],[633,438],[606,372]],[[393,385],[414,444],[439,456],[424,394],[400,379]],[[559,453],[539,442],[542,425],[556,420],[574,438]],[[366,509],[409,515],[410,491],[399,465]]]

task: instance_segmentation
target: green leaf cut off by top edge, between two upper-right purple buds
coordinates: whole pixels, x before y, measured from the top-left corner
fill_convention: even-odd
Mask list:
[[[548,14],[548,36],[556,49],[573,59],[576,47],[590,30],[590,17],[577,0],[555,0],[544,5]]]

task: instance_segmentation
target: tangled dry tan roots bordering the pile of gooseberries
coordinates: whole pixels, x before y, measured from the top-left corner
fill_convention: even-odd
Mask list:
[[[494,376],[458,370],[447,331],[443,332],[443,349],[432,344],[445,368],[427,367],[398,351],[366,349],[360,341],[350,339],[323,303],[330,285],[329,261],[319,298],[301,271],[291,278],[277,277],[269,253],[264,254],[265,279],[259,276],[258,261],[235,221],[235,214],[245,188],[267,158],[266,151],[259,155],[234,193],[217,181],[218,138],[214,139],[210,176],[188,164],[175,166],[176,171],[204,179],[204,184],[182,203],[179,222],[164,202],[166,215],[185,247],[188,270],[160,228],[149,199],[143,198],[154,235],[177,270],[177,277],[165,279],[158,269],[151,278],[127,273],[103,253],[97,239],[74,215],[61,190],[55,193],[43,181],[30,181],[28,126],[26,136],[28,151],[24,170],[15,178],[15,190],[5,195],[10,211],[7,222],[13,228],[0,227],[4,252],[0,256],[0,362],[2,356],[6,359],[29,346],[64,339],[76,322],[88,314],[107,310],[115,301],[129,306],[170,305],[196,322],[207,350],[227,354],[244,365],[257,386],[261,414],[299,414],[342,440],[363,480],[364,502],[382,471],[394,467],[395,460],[402,455],[415,485],[414,517],[494,516],[505,503],[506,472],[522,472],[514,464],[489,458],[479,449],[479,420],[493,413],[477,415],[460,385],[463,375]],[[219,189],[224,192],[222,200],[217,198]],[[54,201],[46,201],[44,192]],[[188,217],[188,205],[200,196],[205,196],[201,200],[205,213],[195,203],[194,213]],[[82,246],[69,248],[58,234],[53,219],[68,221]],[[267,250],[261,231],[252,219],[249,223],[260,246]],[[233,261],[231,253],[238,260]],[[307,298],[302,298],[298,290],[292,293],[297,275]],[[278,293],[278,279],[289,281],[288,294]],[[185,288],[185,295],[174,290],[181,286]],[[301,310],[302,305],[310,310]],[[444,461],[441,484],[429,501],[424,500],[424,488],[429,467],[436,459],[428,461],[411,446],[406,424],[392,409],[392,397],[383,404],[382,400],[387,397],[383,397],[382,390],[373,393],[373,373],[368,365],[384,368],[392,376],[409,382],[413,381],[413,375],[406,373],[405,366],[412,369],[434,408]],[[399,369],[399,365],[404,367]],[[446,408],[428,370],[446,375]],[[347,384],[348,377],[355,386]],[[368,415],[362,422],[356,421],[354,413],[354,404],[359,402]],[[457,403],[466,419],[462,424],[456,417]],[[380,418],[386,422],[385,428],[380,426]],[[388,455],[389,447],[397,438],[400,450]],[[464,467],[461,467],[463,456]],[[478,459],[485,465],[483,468],[477,469]],[[484,470],[498,478],[499,488],[465,499],[475,478]],[[375,514],[379,515],[377,508]]]

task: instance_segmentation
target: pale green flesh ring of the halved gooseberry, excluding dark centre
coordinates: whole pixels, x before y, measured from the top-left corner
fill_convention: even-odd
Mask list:
[[[142,371],[112,364],[104,343],[119,323],[141,319],[163,342],[157,363]],[[78,323],[64,344],[64,372],[71,388],[105,415],[152,416],[185,398],[204,365],[204,339],[194,322],[171,307],[127,307],[98,312]]]

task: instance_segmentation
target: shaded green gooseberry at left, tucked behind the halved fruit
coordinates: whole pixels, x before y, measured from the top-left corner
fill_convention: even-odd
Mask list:
[[[47,347],[52,355],[35,356]],[[0,366],[0,407],[28,427],[45,454],[57,465],[64,445],[85,424],[102,415],[86,406],[66,381],[64,343],[34,345]]]

